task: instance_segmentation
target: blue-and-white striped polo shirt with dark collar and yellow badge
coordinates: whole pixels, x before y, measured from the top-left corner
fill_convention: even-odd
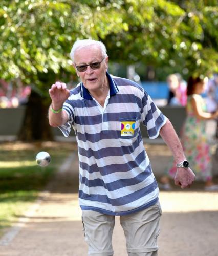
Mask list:
[[[159,189],[145,152],[140,123],[157,138],[167,118],[137,83],[106,73],[110,84],[101,106],[83,83],[63,104],[75,130],[79,155],[79,204],[82,210],[126,215],[158,201]]]

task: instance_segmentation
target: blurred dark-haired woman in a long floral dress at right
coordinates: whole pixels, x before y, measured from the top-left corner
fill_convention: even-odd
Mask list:
[[[205,90],[205,80],[200,77],[190,77],[187,83],[187,117],[182,129],[181,142],[185,155],[196,180],[204,181],[204,189],[207,191],[218,190],[218,185],[212,181],[212,159],[205,126],[206,120],[216,118],[215,113],[206,112],[206,104],[201,94]],[[170,190],[169,177],[175,177],[177,172],[176,163],[167,170],[166,175],[161,177],[159,187]]]

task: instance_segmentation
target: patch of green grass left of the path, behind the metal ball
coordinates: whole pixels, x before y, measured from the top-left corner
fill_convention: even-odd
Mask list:
[[[39,191],[45,188],[70,153],[68,144],[0,144],[0,236],[28,209]],[[48,166],[36,164],[35,156],[39,151],[47,151],[51,155]]]

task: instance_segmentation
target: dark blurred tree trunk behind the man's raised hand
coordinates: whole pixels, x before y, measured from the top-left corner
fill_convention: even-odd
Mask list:
[[[46,98],[32,91],[27,103],[24,121],[18,134],[22,141],[53,140],[48,120],[49,103]]]

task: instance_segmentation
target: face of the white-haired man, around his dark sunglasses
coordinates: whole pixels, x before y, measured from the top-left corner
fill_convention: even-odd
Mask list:
[[[102,52],[98,46],[83,47],[75,52],[74,67],[100,62],[102,59]],[[90,92],[98,90],[104,84],[106,85],[107,61],[108,57],[105,57],[99,69],[92,69],[90,66],[87,66],[87,69],[83,72],[79,72],[76,69],[76,73],[80,77],[84,87]]]

